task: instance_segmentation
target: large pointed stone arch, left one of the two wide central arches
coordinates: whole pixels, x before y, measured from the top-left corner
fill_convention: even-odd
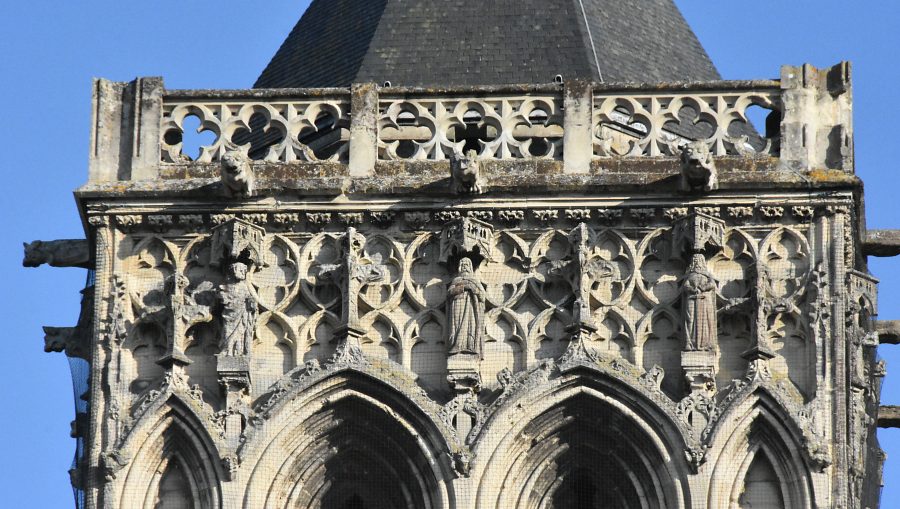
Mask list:
[[[424,398],[365,369],[304,384],[248,436],[244,507],[451,506],[446,431],[420,408]]]

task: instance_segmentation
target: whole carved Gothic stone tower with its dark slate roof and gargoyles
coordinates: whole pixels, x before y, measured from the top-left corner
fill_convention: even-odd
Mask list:
[[[87,238],[25,260],[93,274],[78,506],[878,507],[851,92],[671,0],[315,0],[254,89],[97,80]]]

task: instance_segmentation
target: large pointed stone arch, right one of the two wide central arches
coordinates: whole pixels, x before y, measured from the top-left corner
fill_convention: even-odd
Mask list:
[[[677,425],[648,398],[593,370],[509,400],[475,444],[474,507],[684,508]]]

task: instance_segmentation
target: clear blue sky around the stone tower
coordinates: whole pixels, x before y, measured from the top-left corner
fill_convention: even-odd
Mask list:
[[[857,173],[870,228],[900,228],[900,2],[676,0],[726,79],[781,64],[854,64]],[[6,507],[70,507],[69,368],[42,325],[74,325],[80,269],[23,269],[23,241],[83,236],[72,190],[87,177],[92,77],[164,76],[169,88],[247,88],[308,2],[31,0],[0,4],[0,140],[6,281],[0,340],[0,487]],[[535,13],[540,16],[540,13]],[[900,260],[873,260],[880,316],[900,319]],[[883,402],[900,404],[900,346],[883,347]],[[900,432],[881,432],[885,507],[900,497]]]

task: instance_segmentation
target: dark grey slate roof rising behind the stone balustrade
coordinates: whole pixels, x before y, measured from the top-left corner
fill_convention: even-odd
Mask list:
[[[257,88],[720,79],[673,0],[313,0]]]

